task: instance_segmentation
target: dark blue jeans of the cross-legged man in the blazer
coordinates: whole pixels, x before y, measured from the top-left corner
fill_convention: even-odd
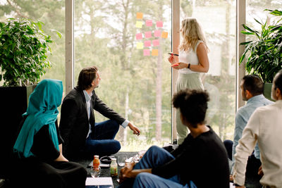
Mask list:
[[[95,123],[95,130],[91,132],[85,142],[86,156],[110,156],[121,149],[121,144],[115,140],[119,125],[115,120]]]

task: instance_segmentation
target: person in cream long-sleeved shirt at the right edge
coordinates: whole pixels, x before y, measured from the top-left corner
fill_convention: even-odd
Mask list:
[[[247,158],[259,146],[264,187],[282,187],[282,70],[274,77],[272,98],[274,104],[262,106],[251,115],[236,147],[233,178],[236,187],[244,187]]]

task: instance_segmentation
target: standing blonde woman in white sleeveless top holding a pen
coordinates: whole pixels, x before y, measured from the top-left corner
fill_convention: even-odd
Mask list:
[[[200,73],[207,73],[209,70],[208,48],[204,32],[196,18],[186,18],[182,20],[180,33],[183,41],[178,46],[179,61],[173,55],[168,58],[170,63],[179,63],[178,66],[173,66],[178,70],[176,92],[186,88],[204,89]],[[179,110],[176,111],[176,130],[178,144],[181,144],[188,135],[188,128],[181,123]]]

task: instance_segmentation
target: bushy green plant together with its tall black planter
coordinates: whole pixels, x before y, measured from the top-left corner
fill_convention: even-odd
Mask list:
[[[5,177],[9,170],[7,161],[28,97],[44,69],[50,67],[47,54],[52,42],[40,22],[9,18],[0,23],[0,81],[4,82],[0,87],[0,147],[1,153],[5,153],[0,158],[4,163],[0,164],[0,177]]]

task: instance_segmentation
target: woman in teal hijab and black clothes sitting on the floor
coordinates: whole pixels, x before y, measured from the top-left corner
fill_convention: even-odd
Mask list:
[[[85,187],[85,168],[68,162],[59,150],[63,140],[56,120],[62,96],[63,83],[52,79],[39,82],[30,95],[13,147],[22,170],[21,186],[25,183],[27,187]]]

